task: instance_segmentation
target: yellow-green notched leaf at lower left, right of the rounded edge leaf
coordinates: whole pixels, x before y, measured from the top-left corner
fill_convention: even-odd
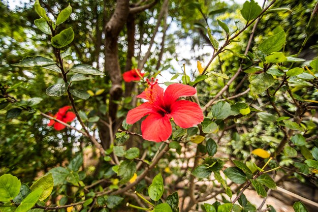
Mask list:
[[[35,191],[38,188],[42,190],[42,193],[39,197],[39,200],[45,200],[48,196],[50,196],[52,190],[53,190],[53,176],[51,173],[48,175],[45,175],[35,181],[35,183],[30,187],[31,191]]]

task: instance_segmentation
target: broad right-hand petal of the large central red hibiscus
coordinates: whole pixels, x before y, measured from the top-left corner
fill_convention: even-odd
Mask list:
[[[176,101],[171,105],[171,116],[176,125],[189,128],[203,121],[203,112],[197,103],[187,100]]]

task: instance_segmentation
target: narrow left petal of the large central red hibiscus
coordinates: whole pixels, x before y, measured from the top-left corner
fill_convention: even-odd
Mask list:
[[[154,112],[152,105],[149,102],[143,103],[138,107],[128,111],[126,123],[132,125],[135,122],[137,122],[140,118],[144,117],[145,115],[151,112]]]

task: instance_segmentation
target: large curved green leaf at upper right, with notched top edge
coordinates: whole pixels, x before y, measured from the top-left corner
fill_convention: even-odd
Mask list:
[[[274,29],[277,32],[259,45],[259,49],[266,54],[279,51],[285,44],[286,35],[280,26]]]

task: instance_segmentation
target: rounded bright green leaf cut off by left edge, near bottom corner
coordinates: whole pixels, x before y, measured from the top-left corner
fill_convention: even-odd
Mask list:
[[[20,192],[21,182],[16,176],[4,174],[0,177],[0,201],[6,202],[15,198]]]

